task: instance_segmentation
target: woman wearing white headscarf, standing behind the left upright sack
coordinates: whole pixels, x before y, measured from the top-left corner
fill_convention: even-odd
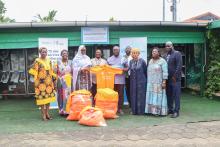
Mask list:
[[[76,56],[72,61],[73,65],[73,91],[79,89],[90,90],[91,74],[89,67],[92,65],[90,58],[86,55],[86,47],[80,45]]]

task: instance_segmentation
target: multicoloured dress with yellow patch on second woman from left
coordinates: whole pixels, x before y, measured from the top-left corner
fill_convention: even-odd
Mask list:
[[[72,83],[72,64],[71,61],[63,63],[57,62],[57,102],[60,113],[66,113],[66,103],[71,93]]]

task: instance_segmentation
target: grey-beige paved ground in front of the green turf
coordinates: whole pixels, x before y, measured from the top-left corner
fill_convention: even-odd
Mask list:
[[[220,121],[140,128],[1,134],[0,146],[220,146]]]

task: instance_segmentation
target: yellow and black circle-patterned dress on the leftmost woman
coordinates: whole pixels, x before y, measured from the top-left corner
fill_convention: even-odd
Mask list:
[[[34,76],[35,97],[37,105],[45,105],[55,101],[56,74],[53,72],[49,58],[37,58],[29,73]]]

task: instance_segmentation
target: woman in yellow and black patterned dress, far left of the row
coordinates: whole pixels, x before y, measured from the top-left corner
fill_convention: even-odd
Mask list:
[[[36,103],[41,107],[42,120],[46,121],[52,119],[49,107],[50,103],[55,101],[56,74],[50,59],[47,58],[47,49],[42,47],[39,52],[40,57],[35,60],[29,73],[34,76]]]

